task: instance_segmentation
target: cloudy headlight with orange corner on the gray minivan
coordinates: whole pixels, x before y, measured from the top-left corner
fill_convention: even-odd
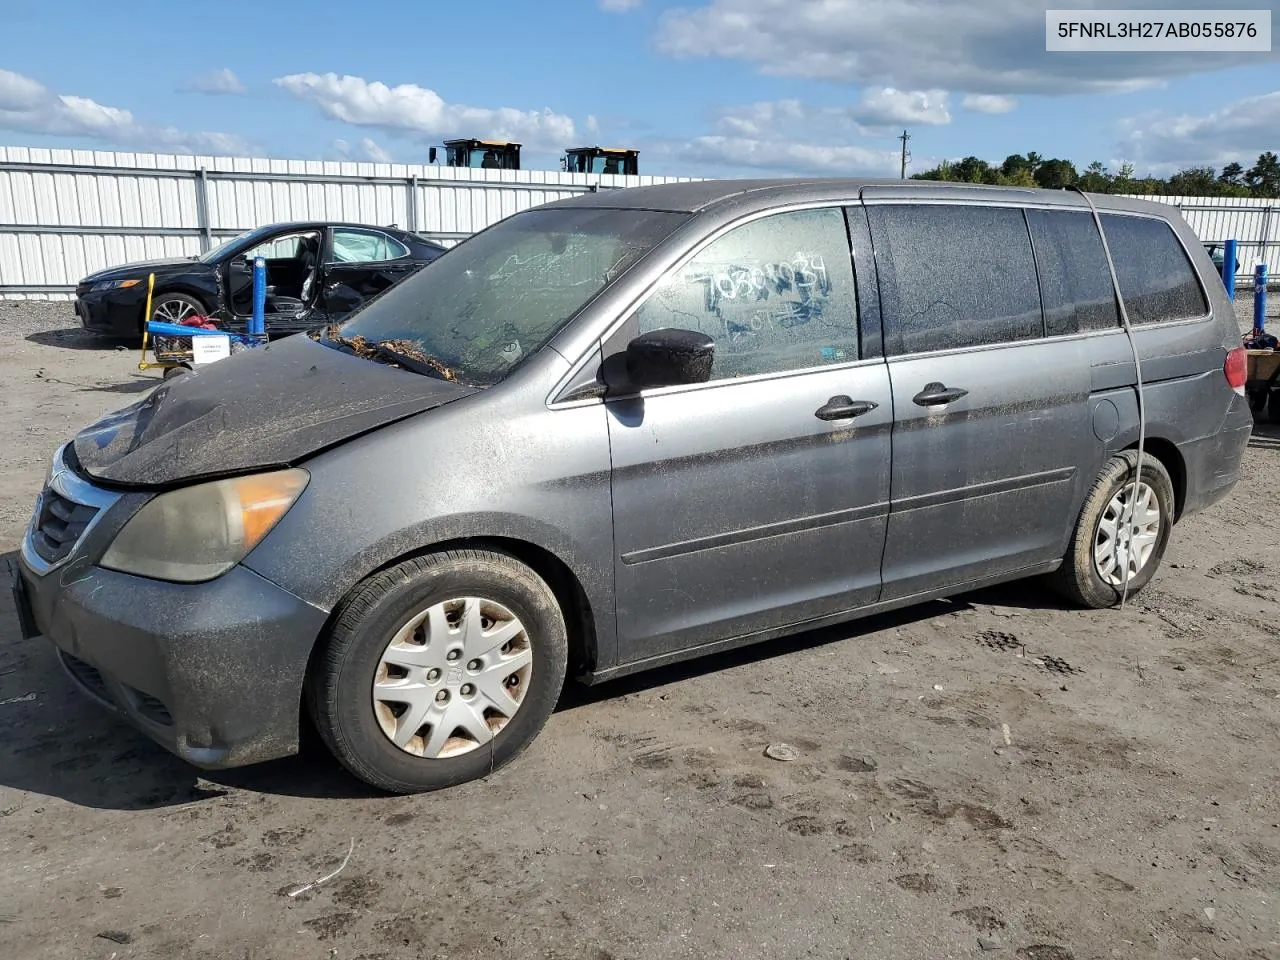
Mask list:
[[[279,470],[163,493],[129,518],[100,566],[182,584],[212,580],[257,547],[308,479]]]

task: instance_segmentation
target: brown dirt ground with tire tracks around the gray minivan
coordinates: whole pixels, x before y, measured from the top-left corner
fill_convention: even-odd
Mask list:
[[[55,445],[157,381],[72,326],[0,302],[0,557]],[[1258,428],[1124,611],[1019,584],[571,689],[419,797],[201,776],[0,594],[0,956],[1280,959],[1277,503]]]

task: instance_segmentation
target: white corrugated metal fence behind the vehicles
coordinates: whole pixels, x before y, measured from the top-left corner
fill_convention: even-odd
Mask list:
[[[65,300],[95,270],[191,256],[269,223],[394,224],[452,244],[584,191],[689,179],[0,147],[0,298]],[[1146,198],[1180,207],[1204,242],[1238,239],[1242,274],[1280,268],[1280,201]]]

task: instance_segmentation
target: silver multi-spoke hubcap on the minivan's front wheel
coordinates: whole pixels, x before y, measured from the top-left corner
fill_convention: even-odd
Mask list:
[[[402,626],[374,675],[374,716],[415,756],[470,753],[506,727],[529,690],[534,652],[500,603],[445,600]]]

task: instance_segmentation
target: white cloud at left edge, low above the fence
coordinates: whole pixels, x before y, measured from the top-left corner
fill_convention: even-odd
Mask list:
[[[252,146],[236,134],[141,123],[128,110],[87,97],[54,93],[12,70],[0,70],[0,129],[100,140],[118,147],[174,154],[252,152]]]

